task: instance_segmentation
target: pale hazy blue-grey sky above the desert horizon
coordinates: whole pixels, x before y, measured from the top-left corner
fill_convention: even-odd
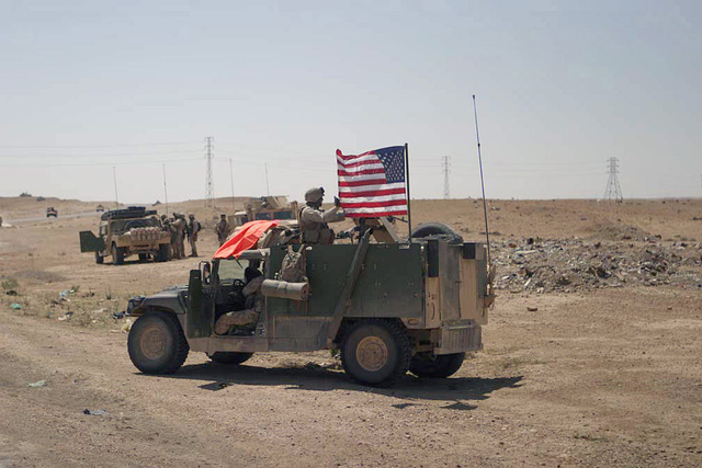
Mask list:
[[[0,0],[0,196],[702,196],[698,1]],[[475,95],[475,101],[473,100]],[[475,102],[475,107],[474,107]],[[449,157],[448,186],[444,157]]]

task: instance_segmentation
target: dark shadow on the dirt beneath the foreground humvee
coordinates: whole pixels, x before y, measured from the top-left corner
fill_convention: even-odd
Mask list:
[[[418,404],[412,400],[453,401],[445,409],[472,410],[476,407],[468,401],[480,401],[502,388],[521,387],[523,376],[508,377],[451,377],[417,378],[410,374],[400,378],[392,388],[373,388],[353,383],[343,372],[316,364],[301,367],[258,367],[205,363],[185,365],[178,373],[159,376],[173,379],[202,380],[203,390],[218,391],[236,386],[285,386],[286,390],[331,391],[349,390],[370,392],[392,398],[407,399],[408,402],[393,404],[398,409]]]

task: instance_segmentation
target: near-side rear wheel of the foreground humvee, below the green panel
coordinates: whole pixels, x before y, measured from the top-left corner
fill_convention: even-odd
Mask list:
[[[344,372],[355,381],[372,387],[393,385],[407,373],[410,358],[409,336],[395,321],[358,322],[341,345]]]

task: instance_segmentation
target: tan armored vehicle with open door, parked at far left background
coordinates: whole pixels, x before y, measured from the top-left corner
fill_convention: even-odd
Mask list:
[[[104,212],[100,216],[98,236],[92,231],[81,231],[80,251],[95,252],[95,263],[103,263],[110,255],[112,263],[120,265],[134,254],[139,255],[139,260],[151,256],[166,262],[170,253],[170,235],[156,210],[131,206]]]

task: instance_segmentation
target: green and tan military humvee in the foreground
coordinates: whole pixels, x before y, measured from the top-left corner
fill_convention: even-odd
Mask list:
[[[482,349],[494,300],[485,246],[435,224],[420,226],[411,242],[371,243],[370,235],[359,243],[292,247],[304,251],[308,288],[280,281],[291,247],[275,246],[201,262],[188,285],[131,299],[127,310],[138,317],[128,336],[132,362],[168,374],[189,351],[241,364],[259,352],[329,349],[363,385],[389,386],[407,370],[451,376],[466,352]],[[217,335],[217,319],[244,307],[248,260],[262,264],[262,312],[248,330]]]

